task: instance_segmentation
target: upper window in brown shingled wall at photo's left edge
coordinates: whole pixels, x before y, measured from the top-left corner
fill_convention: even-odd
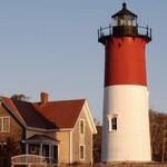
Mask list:
[[[10,117],[4,116],[0,117],[0,132],[9,132],[10,131]]]

